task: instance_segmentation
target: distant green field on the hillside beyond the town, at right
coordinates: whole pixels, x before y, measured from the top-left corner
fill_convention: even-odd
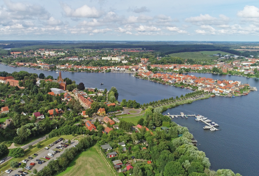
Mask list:
[[[216,59],[217,57],[212,57],[211,55],[218,54],[227,55],[230,53],[223,51],[198,51],[198,52],[182,52],[182,53],[172,53],[170,56],[180,57],[183,59]]]

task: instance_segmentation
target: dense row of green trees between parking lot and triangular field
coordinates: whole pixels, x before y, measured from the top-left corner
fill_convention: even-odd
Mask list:
[[[48,165],[39,171],[36,176],[56,176],[65,171],[73,159],[82,151],[89,149],[93,144],[91,137],[80,140],[76,147],[66,149],[56,160],[49,161]]]

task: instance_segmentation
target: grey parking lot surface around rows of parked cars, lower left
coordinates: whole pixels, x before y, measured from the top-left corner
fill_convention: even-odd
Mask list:
[[[78,142],[71,141],[71,144],[70,144],[67,148],[63,148],[63,150],[59,150],[60,153],[56,153],[53,157],[49,157],[49,156],[48,156],[49,150],[58,150],[58,149],[56,149],[56,147],[58,147],[59,145],[61,145],[61,143],[63,143],[63,141],[58,142],[57,144],[54,144],[54,146],[52,146],[52,147],[50,147],[50,146],[43,146],[43,149],[40,150],[38,153],[36,153],[36,154],[38,154],[38,156],[31,155],[30,157],[33,157],[33,159],[31,159],[31,160],[27,158],[27,159],[29,160],[29,161],[27,162],[27,166],[29,166],[29,167],[31,168],[30,171],[33,172],[33,170],[36,169],[36,170],[39,172],[39,171],[42,170],[45,166],[47,166],[47,164],[48,164],[48,162],[49,162],[50,160],[55,160],[55,159],[56,159],[57,157],[59,157],[66,149],[69,149],[69,148],[73,147],[73,145],[77,144]],[[65,143],[67,143],[67,141],[66,141]],[[63,146],[63,145],[61,145],[61,146]],[[48,147],[49,149],[46,150],[46,149],[44,149],[45,147]],[[50,160],[48,160],[48,161],[47,161],[47,160],[43,160],[42,158],[43,158],[44,156],[50,158]],[[39,160],[41,160],[41,161],[43,160],[43,161],[45,161],[45,163],[38,164],[38,162],[36,161],[37,159],[39,159]],[[21,163],[21,161],[20,161],[20,163]],[[35,163],[35,165],[34,165],[34,166],[30,166],[30,163]],[[11,170],[13,170],[13,169],[11,169]],[[23,171],[23,172],[28,173],[27,170],[22,170],[22,168],[18,168],[18,169],[13,170],[13,171],[12,171],[11,173],[9,173],[9,174],[4,173],[4,174],[2,174],[1,176],[14,176],[15,174],[18,174],[18,175],[20,176],[20,173],[18,173],[18,171]],[[30,173],[28,173],[28,174],[30,174]],[[27,175],[27,176],[28,176],[28,175]]]

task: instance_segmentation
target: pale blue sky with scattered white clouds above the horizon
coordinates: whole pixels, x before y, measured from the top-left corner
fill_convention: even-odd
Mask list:
[[[259,0],[0,0],[0,40],[259,41]]]

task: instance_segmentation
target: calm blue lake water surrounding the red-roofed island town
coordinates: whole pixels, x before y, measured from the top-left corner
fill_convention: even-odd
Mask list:
[[[12,73],[14,71],[27,71],[30,73],[44,73],[57,78],[55,71],[37,71],[29,68],[12,68],[0,65],[0,71]],[[221,76],[212,74],[192,73],[196,77],[213,79],[229,79],[249,83],[259,88],[259,81],[237,76]],[[137,102],[146,103],[162,98],[175,97],[185,94],[190,90],[161,85],[150,81],[139,80],[131,77],[130,74],[116,73],[69,73],[62,72],[63,78],[70,78],[76,83],[83,82],[89,88],[116,87],[119,91],[119,100],[135,99]],[[100,85],[104,83],[104,85]],[[198,148],[206,153],[210,159],[211,169],[231,169],[243,176],[259,176],[259,92],[252,91],[247,96],[227,98],[213,97],[204,100],[194,101],[191,104],[184,104],[168,109],[163,114],[201,114],[220,125],[220,131],[204,130],[194,117],[174,118],[176,123],[188,127],[189,131],[198,141]],[[200,144],[200,145],[199,145]]]

